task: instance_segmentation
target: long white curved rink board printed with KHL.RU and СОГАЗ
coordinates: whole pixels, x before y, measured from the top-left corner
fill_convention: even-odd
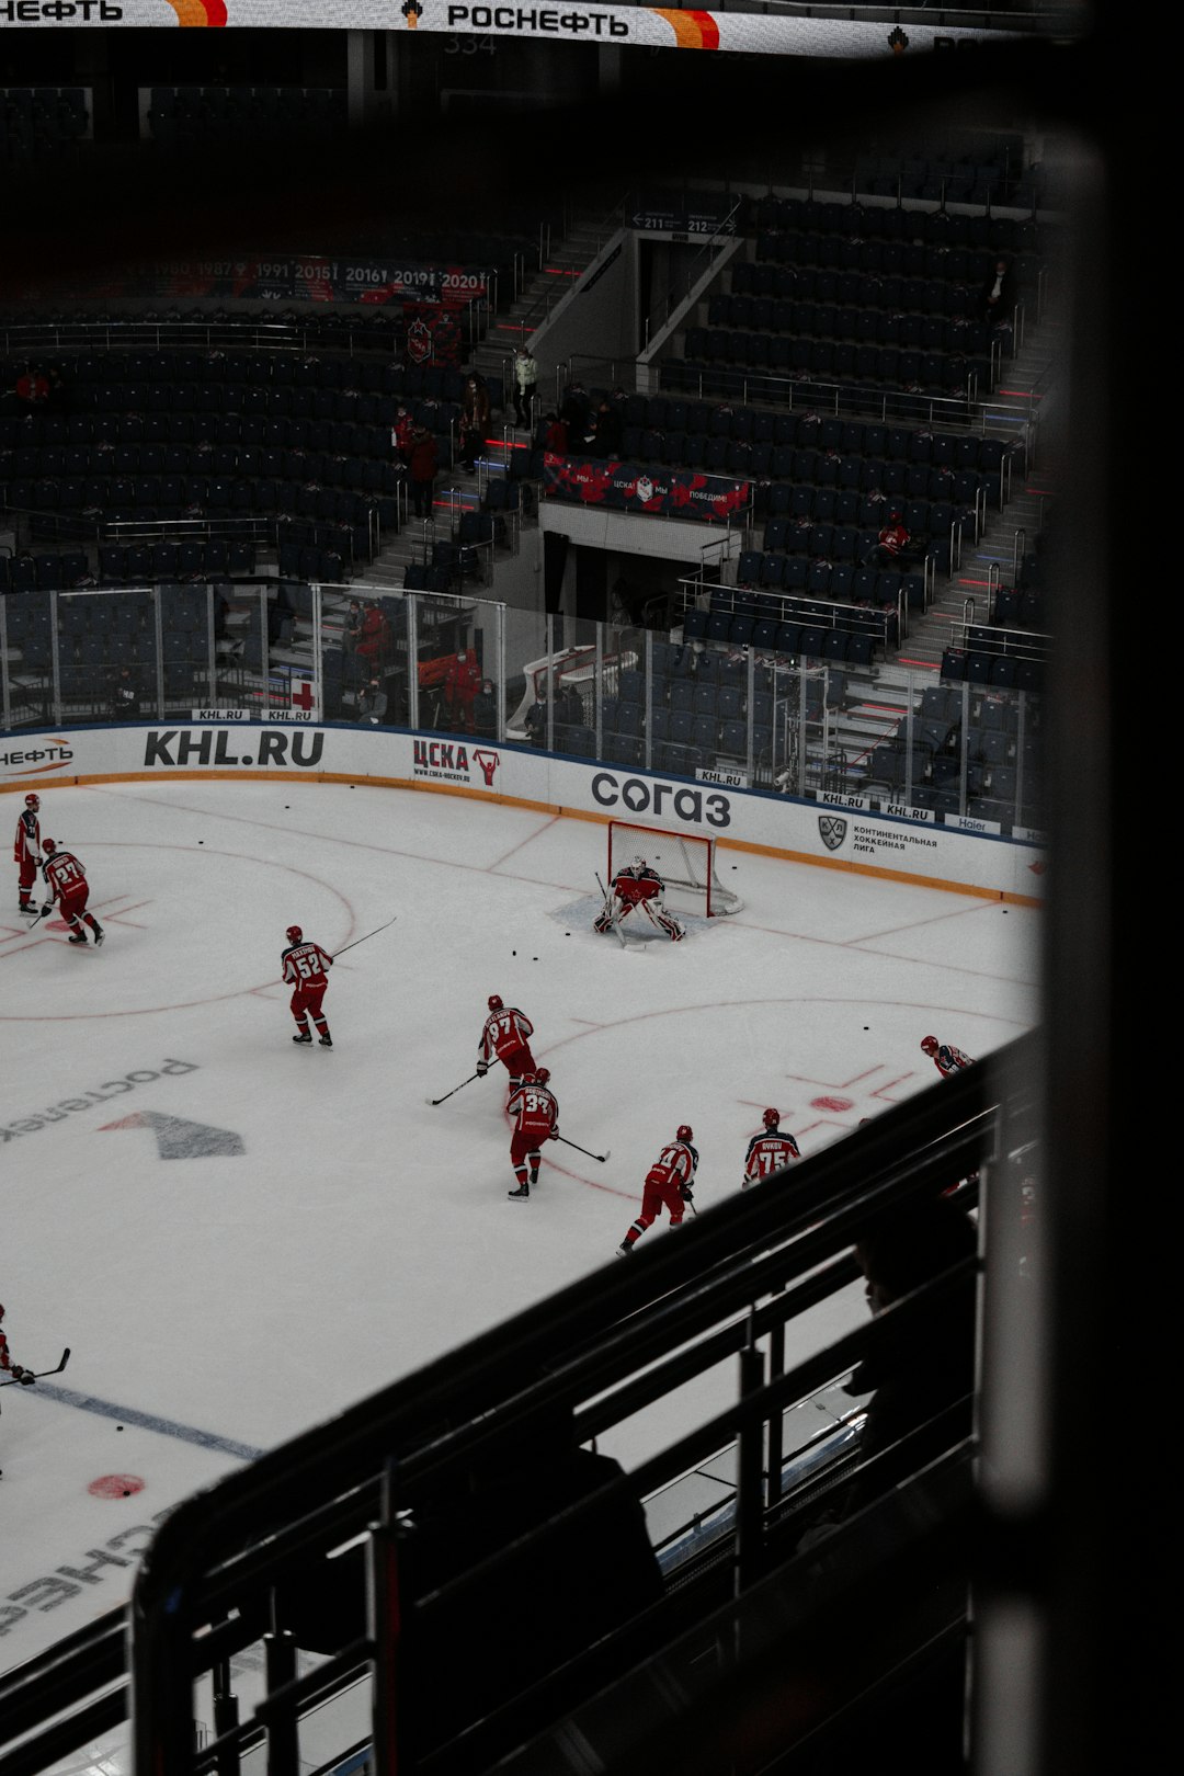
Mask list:
[[[0,790],[105,778],[282,776],[369,781],[506,801],[588,821],[671,826],[738,851],[1038,906],[1038,835],[999,838],[987,822],[946,828],[928,810],[886,815],[857,796],[797,801],[731,785],[557,758],[440,733],[266,723],[186,723],[23,735],[0,742]]]

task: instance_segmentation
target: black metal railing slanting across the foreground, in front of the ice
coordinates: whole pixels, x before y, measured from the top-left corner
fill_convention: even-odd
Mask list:
[[[295,1776],[302,1714],[344,1693],[364,1698],[382,1776],[575,1769],[564,1721],[605,1769],[639,1767],[651,1735],[675,1730],[687,1769],[756,1769],[733,1733],[744,1698],[762,1710],[763,1751],[792,1756],[875,1712],[888,1664],[921,1693],[948,1677],[964,1657],[973,1545],[969,1405],[863,1465],[849,1439],[793,1490],[781,1428],[893,1327],[905,1339],[923,1327],[975,1259],[900,1302],[888,1328],[868,1318],[804,1360],[786,1364],[786,1328],[850,1286],[852,1243],[886,1213],[948,1190],[973,1204],[980,1188],[987,1222],[1021,1213],[1010,1154],[1022,1146],[1030,1172],[1033,1044],[886,1110],[185,1501],[126,1618],[0,1680],[0,1776],[34,1776],[124,1712],[137,1776],[225,1776],[261,1744],[272,1776]],[[701,1419],[632,1472],[584,1447],[675,1389],[687,1399],[733,1355],[733,1398],[721,1407],[715,1385]],[[721,1533],[664,1575],[641,1501],[728,1449]],[[802,1542],[852,1485],[868,1508]],[[868,1607],[884,1575],[891,1627]],[[264,1696],[240,1723],[231,1659],[259,1643]],[[201,1748],[195,1684],[213,1694]]]

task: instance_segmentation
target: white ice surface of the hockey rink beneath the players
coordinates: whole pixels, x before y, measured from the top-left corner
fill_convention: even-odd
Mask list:
[[[620,1263],[680,1122],[705,1213],[767,1105],[808,1156],[934,1083],[921,1035],[982,1057],[1038,1016],[1033,909],[721,849],[744,909],[621,948],[591,931],[605,828],[513,806],[108,783],[46,790],[41,831],[107,943],[30,929],[12,868],[0,1300],[16,1362],[71,1359],[0,1392],[4,1669],[126,1598],[193,1488]],[[291,1041],[291,924],[366,938],[332,971],[332,1051]],[[504,1071],[428,1103],[472,1074],[490,993],[533,1019],[561,1133],[609,1154],[549,1144],[527,1204]],[[790,1355],[864,1312],[850,1289]],[[667,1428],[604,1447],[632,1465]]]

